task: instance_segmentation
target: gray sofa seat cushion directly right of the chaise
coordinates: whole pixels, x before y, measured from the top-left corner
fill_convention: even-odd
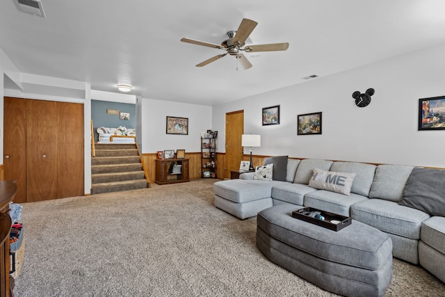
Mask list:
[[[283,182],[273,186],[272,198],[274,200],[302,205],[305,194],[314,191],[317,190],[305,184],[291,184],[289,182]]]

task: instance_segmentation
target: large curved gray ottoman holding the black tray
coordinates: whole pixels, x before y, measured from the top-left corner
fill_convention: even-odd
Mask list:
[[[302,207],[278,205],[257,216],[257,246],[270,261],[344,296],[383,296],[392,278],[392,243],[353,220],[339,232],[292,217]],[[293,292],[296,293],[296,292]]]

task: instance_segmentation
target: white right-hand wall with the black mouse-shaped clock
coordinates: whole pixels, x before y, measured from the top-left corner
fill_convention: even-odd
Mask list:
[[[445,130],[417,131],[419,98],[445,95],[445,45],[319,77],[213,107],[218,151],[225,113],[244,110],[244,132],[261,134],[254,154],[445,168]],[[372,102],[352,94],[374,88]],[[261,125],[261,109],[280,104],[280,125]],[[323,112],[323,134],[297,136],[298,114]],[[219,137],[220,136],[220,137]]]

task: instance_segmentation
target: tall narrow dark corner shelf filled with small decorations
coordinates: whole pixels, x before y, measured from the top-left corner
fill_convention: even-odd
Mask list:
[[[201,177],[217,178],[216,138],[218,131],[201,132]]]

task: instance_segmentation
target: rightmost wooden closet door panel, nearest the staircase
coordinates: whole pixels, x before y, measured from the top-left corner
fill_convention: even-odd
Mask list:
[[[83,195],[83,104],[57,102],[58,198]]]

